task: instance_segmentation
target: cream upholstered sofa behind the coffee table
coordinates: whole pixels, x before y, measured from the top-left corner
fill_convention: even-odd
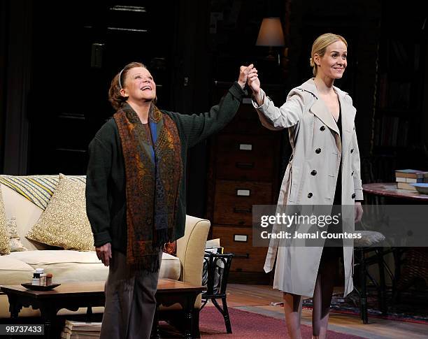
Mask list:
[[[0,285],[31,281],[36,267],[45,268],[47,273],[52,273],[53,282],[57,283],[106,280],[108,268],[101,264],[95,252],[53,249],[48,245],[25,238],[43,210],[13,189],[3,184],[0,184],[0,187],[6,218],[16,218],[21,242],[27,247],[27,251],[11,252],[0,257]],[[204,249],[209,228],[208,220],[187,216],[185,236],[177,241],[177,257],[163,254],[159,277],[201,284]],[[199,309],[200,305],[199,296],[195,308]],[[0,318],[10,317],[8,308],[6,295],[0,294]],[[76,312],[60,310],[58,314],[83,312],[86,312],[86,309]],[[103,312],[103,308],[96,308],[94,312]],[[23,308],[20,312],[20,317],[38,315],[40,315],[39,311],[31,308]]]

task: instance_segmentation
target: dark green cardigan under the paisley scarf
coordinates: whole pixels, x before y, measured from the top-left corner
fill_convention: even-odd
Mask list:
[[[236,114],[246,93],[238,82],[230,87],[220,103],[208,113],[183,115],[162,110],[176,123],[181,142],[183,180],[178,197],[176,240],[184,235],[186,222],[186,160],[187,149],[220,131]],[[111,243],[114,250],[126,253],[126,185],[124,158],[119,131],[111,118],[99,129],[89,145],[86,177],[86,210],[90,220],[94,245]]]

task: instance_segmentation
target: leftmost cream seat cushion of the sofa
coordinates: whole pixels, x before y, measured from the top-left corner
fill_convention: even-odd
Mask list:
[[[33,272],[34,268],[29,264],[10,257],[10,254],[0,257],[0,285],[30,282]]]

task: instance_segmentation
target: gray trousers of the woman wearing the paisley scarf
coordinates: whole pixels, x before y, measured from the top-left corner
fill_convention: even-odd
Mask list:
[[[130,273],[126,256],[113,251],[105,287],[101,339],[150,338],[158,277],[159,271]]]

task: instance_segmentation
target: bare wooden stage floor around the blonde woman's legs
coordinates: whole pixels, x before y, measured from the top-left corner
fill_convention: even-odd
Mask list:
[[[249,312],[283,319],[283,308],[271,305],[283,301],[283,294],[271,286],[228,284],[227,305]],[[302,324],[311,325],[311,310],[303,310]],[[233,319],[232,328],[233,328]],[[419,339],[428,338],[428,325],[398,322],[369,317],[369,324],[362,324],[357,316],[330,314],[329,329],[372,339]]]

